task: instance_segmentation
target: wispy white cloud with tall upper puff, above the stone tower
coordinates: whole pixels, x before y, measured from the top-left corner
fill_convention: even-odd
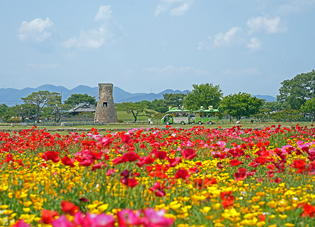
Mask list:
[[[111,5],[100,6],[98,13],[94,17],[95,21],[104,21],[98,29],[90,29],[81,31],[79,37],[76,36],[68,39],[63,45],[67,48],[80,49],[97,49],[106,42],[116,42],[120,38],[115,38],[116,35],[124,35],[127,33],[123,27],[112,18]]]

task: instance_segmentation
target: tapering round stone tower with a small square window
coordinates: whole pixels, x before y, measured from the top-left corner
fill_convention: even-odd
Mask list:
[[[94,122],[117,123],[117,112],[113,98],[113,84],[98,84],[98,102],[95,111]]]

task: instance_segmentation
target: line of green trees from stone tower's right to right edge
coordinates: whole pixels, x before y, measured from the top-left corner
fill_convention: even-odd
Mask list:
[[[184,107],[198,110],[200,106],[212,105],[220,108],[219,117],[251,118],[259,123],[268,121],[298,121],[304,116],[315,119],[315,71],[296,75],[294,78],[281,82],[276,101],[252,97],[251,94],[239,92],[224,96],[219,85],[213,83],[193,84],[193,89],[187,94],[164,94],[163,99],[153,101],[123,102],[116,104],[117,110],[132,113],[135,121],[138,116],[153,115],[150,110],[160,113],[168,111],[169,106]],[[163,115],[155,115],[162,118]]]

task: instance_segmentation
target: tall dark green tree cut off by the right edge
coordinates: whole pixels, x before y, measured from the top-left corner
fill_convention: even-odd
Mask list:
[[[315,97],[315,70],[284,80],[281,85],[277,100],[287,102],[291,109],[300,109],[307,99]]]

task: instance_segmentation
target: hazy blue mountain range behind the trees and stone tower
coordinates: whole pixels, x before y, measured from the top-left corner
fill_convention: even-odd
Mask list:
[[[85,85],[79,85],[71,90],[64,86],[54,86],[51,84],[45,84],[36,88],[23,88],[23,89],[14,89],[14,88],[0,88],[0,103],[5,103],[9,106],[15,105],[15,104],[22,104],[23,100],[21,97],[27,97],[32,92],[37,92],[40,90],[48,90],[50,92],[58,92],[62,95],[62,100],[66,100],[68,97],[70,97],[71,94],[88,94],[91,96],[94,96],[96,100],[98,100],[98,87],[89,87]],[[136,102],[136,101],[142,101],[142,100],[148,100],[153,101],[156,99],[162,99],[163,94],[165,93],[187,93],[190,92],[189,90],[172,90],[172,89],[166,89],[160,93],[130,93],[127,92],[119,87],[113,88],[113,97],[114,102]],[[270,95],[252,95],[256,96],[258,98],[265,98],[266,101],[275,101],[276,98]]]

